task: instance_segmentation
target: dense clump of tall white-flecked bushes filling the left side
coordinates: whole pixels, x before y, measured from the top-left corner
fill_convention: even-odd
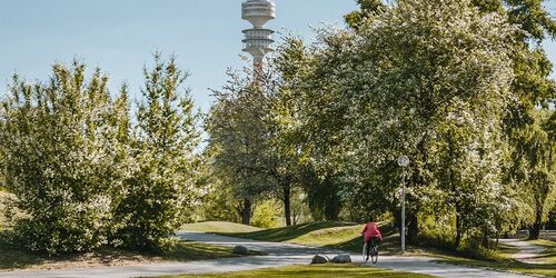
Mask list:
[[[187,75],[156,56],[131,132],[127,88],[113,100],[97,69],[53,66],[48,83],[13,77],[0,111],[0,177],[27,248],[58,255],[103,245],[171,245],[195,196],[198,143]],[[4,182],[4,183],[3,183]]]

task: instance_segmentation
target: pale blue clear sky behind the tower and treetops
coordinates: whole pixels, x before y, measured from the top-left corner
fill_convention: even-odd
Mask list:
[[[240,0],[0,0],[0,91],[17,71],[28,80],[46,80],[54,61],[73,58],[100,66],[116,90],[122,82],[138,96],[142,66],[153,51],[176,54],[191,72],[188,86],[199,107],[212,99],[207,88],[220,88],[226,68],[244,62]],[[311,40],[311,27],[344,24],[355,0],[276,0],[280,32]],[[547,6],[556,13],[556,0]],[[278,34],[279,36],[279,34]],[[277,37],[278,37],[277,36]],[[545,44],[556,62],[556,43]],[[553,75],[554,76],[554,75]]]

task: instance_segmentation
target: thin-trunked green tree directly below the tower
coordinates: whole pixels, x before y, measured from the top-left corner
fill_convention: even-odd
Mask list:
[[[250,224],[254,203],[269,188],[266,149],[268,101],[250,79],[229,71],[230,80],[215,91],[206,129],[210,136],[215,173],[241,200],[241,221]]]

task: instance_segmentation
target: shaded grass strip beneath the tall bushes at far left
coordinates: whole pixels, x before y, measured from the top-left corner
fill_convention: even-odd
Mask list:
[[[180,241],[168,251],[136,252],[113,248],[103,248],[89,254],[48,257],[32,254],[0,238],[0,269],[59,269],[96,266],[130,266],[161,261],[190,261],[238,257],[229,247]],[[260,255],[252,252],[252,255]]]

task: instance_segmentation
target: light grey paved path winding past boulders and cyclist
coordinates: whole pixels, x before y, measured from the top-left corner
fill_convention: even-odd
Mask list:
[[[264,242],[248,239],[229,238],[199,232],[180,232],[180,238],[202,241],[211,245],[236,246],[241,244],[252,250],[264,251],[268,256],[228,258],[218,260],[202,260],[190,262],[153,264],[135,267],[96,267],[60,270],[18,270],[0,272],[0,277],[147,277],[178,274],[207,274],[230,272],[257,268],[281,267],[296,264],[308,264],[315,254],[336,255],[339,251],[314,247],[288,245],[279,242]],[[353,255],[355,262],[360,260],[360,255]],[[370,264],[367,264],[371,266]],[[510,275],[505,272],[488,271],[468,267],[451,266],[434,262],[430,258],[420,257],[380,257],[376,265],[416,274],[427,274],[447,278],[523,278],[527,276]]]

